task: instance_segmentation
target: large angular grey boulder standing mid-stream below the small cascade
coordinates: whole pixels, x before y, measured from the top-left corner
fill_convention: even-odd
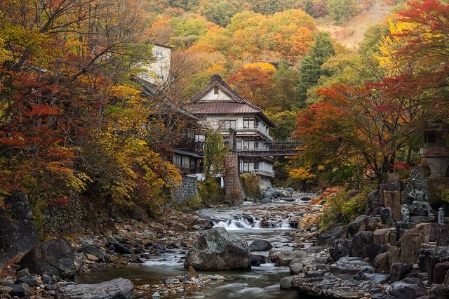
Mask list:
[[[201,234],[190,248],[184,267],[195,270],[250,270],[251,254],[243,237],[216,227]]]

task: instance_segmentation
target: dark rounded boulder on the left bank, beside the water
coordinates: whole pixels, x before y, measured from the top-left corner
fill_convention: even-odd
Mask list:
[[[32,248],[20,261],[20,267],[31,273],[70,278],[75,273],[74,250],[67,239],[53,239]]]

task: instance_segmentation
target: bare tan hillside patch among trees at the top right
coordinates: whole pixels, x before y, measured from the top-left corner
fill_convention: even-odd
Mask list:
[[[385,0],[373,0],[366,11],[362,11],[342,26],[327,25],[324,20],[317,20],[320,30],[330,32],[333,39],[347,48],[356,48],[363,41],[363,34],[371,25],[380,24],[385,20],[394,4]]]

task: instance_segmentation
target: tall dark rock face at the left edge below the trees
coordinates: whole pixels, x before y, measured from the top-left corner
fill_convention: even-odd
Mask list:
[[[37,230],[25,193],[4,198],[0,208],[0,269],[38,244]]]

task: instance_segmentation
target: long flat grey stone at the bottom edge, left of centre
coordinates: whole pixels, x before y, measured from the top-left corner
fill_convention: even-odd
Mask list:
[[[63,288],[70,299],[134,298],[134,286],[129,279],[117,278],[100,284],[69,284]]]

